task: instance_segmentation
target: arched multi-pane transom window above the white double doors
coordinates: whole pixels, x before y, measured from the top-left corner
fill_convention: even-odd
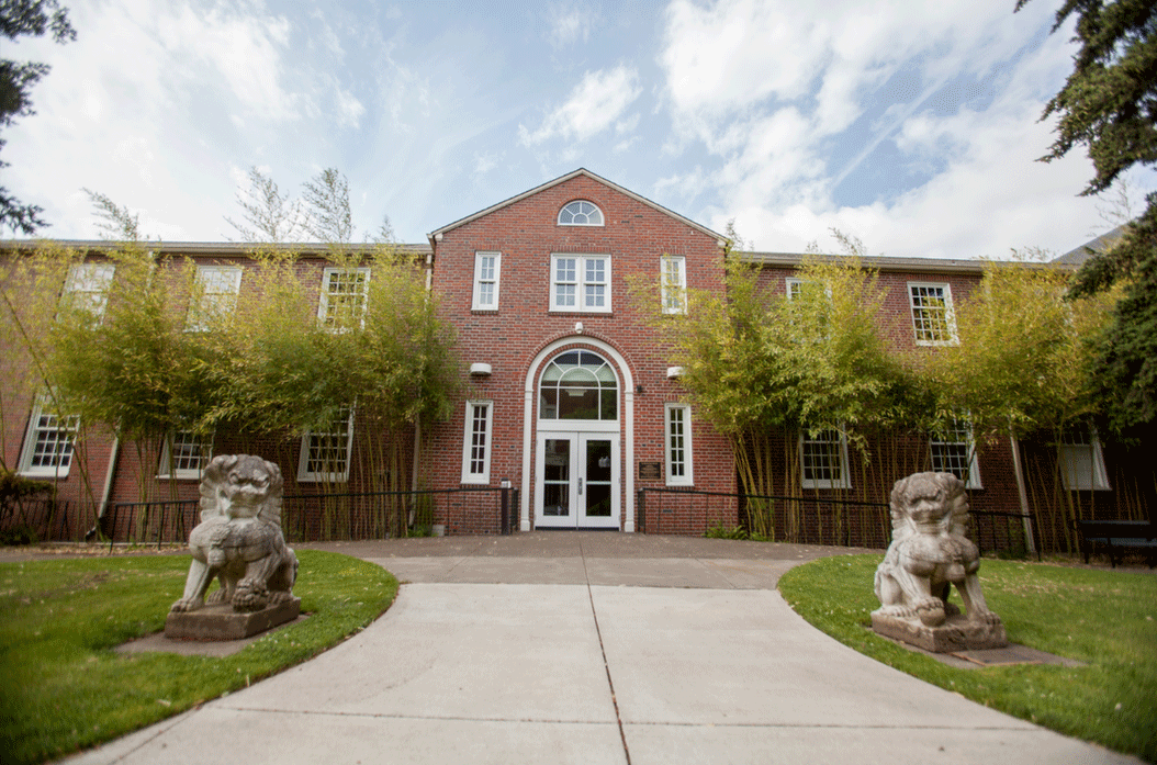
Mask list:
[[[538,384],[543,420],[619,419],[619,381],[603,356],[568,351],[554,356]]]

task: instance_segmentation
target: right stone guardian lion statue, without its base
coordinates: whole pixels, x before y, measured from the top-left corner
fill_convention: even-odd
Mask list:
[[[968,500],[952,473],[914,473],[892,488],[892,544],[876,569],[872,616],[918,618],[928,627],[960,613],[948,602],[956,584],[968,621],[1000,625],[980,591],[980,553],[966,536]]]

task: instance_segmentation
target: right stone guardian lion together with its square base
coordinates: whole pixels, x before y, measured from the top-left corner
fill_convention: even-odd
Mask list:
[[[952,473],[914,473],[892,488],[892,544],[876,569],[872,630],[934,653],[1003,648],[1001,618],[980,591],[968,500]],[[956,586],[965,612],[948,602]]]

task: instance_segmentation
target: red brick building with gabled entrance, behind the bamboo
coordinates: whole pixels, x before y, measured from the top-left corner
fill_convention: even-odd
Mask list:
[[[511,525],[521,531],[597,528],[699,535],[712,525],[740,523],[744,508],[736,496],[730,443],[683,399],[679,369],[671,367],[629,294],[633,280],[662,280],[669,288],[663,310],[681,311],[681,289],[722,292],[723,247],[720,234],[582,169],[439,228],[428,247],[407,245],[415,259],[425,260],[427,284],[457,330],[466,381],[466,393],[449,421],[421,434],[415,475],[421,475],[422,486],[435,492],[517,490]],[[244,247],[164,249],[191,258],[201,270],[198,278],[221,294],[244,300],[243,274],[250,264]],[[784,294],[793,289],[799,255],[745,257],[761,263],[766,286]],[[316,272],[318,315],[324,317],[326,300],[336,300],[356,274],[327,267],[319,258],[301,263]],[[886,288],[886,333],[897,348],[949,340],[942,333],[953,331],[946,322],[952,301],[967,296],[981,277],[977,260],[869,258],[867,264]],[[72,288],[98,295],[113,274],[100,255],[84,267]],[[44,414],[31,395],[8,395],[3,403],[5,464],[56,481],[60,498],[83,505],[87,496],[100,508],[131,501],[135,488],[126,476],[152,471],[149,465],[130,465],[137,458],[132,450],[100,434],[90,435],[84,464],[76,464],[81,459],[73,459],[69,447],[75,424]],[[15,410],[27,418],[10,415]],[[236,433],[218,434],[208,444],[178,437],[172,447],[180,451],[177,471],[170,476],[160,469],[156,480],[177,483],[176,493],[193,499],[206,451],[248,450],[281,465],[287,494],[309,493],[319,481],[317,469],[310,468],[314,451],[319,444],[340,446],[342,439],[345,448],[352,448],[358,427],[351,415],[334,433],[280,442]],[[978,510],[1019,513],[1030,499],[1025,487],[1031,480],[1018,480],[1018,444],[1011,441],[977,451],[961,427],[939,440],[907,435],[891,444],[904,453],[902,459],[865,462],[849,454],[835,432],[784,441],[783,453],[798,456],[801,472],[793,479],[783,470],[775,493],[858,501],[856,523],[883,529],[886,512],[878,503],[886,501],[892,481],[915,470],[967,477]],[[1099,443],[1093,439],[1071,446],[1069,458],[1088,468],[1090,478],[1074,478],[1067,488],[1089,499],[1100,496],[1104,503],[1111,478]],[[325,483],[354,491],[359,464],[347,454],[344,472],[327,476]],[[898,470],[902,472],[892,475]],[[799,485],[788,485],[793,480]],[[646,500],[644,514],[639,498],[646,492],[640,490],[680,493],[655,494]],[[495,502],[462,496],[437,494],[434,522],[449,534],[498,530]],[[90,508],[89,517],[97,512]],[[846,538],[863,537],[849,530]]]

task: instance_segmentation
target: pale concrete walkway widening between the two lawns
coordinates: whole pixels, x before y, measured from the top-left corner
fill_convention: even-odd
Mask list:
[[[833,550],[583,532],[302,546],[408,583],[317,659],[69,762],[1138,762],[809,626],[773,588]]]

